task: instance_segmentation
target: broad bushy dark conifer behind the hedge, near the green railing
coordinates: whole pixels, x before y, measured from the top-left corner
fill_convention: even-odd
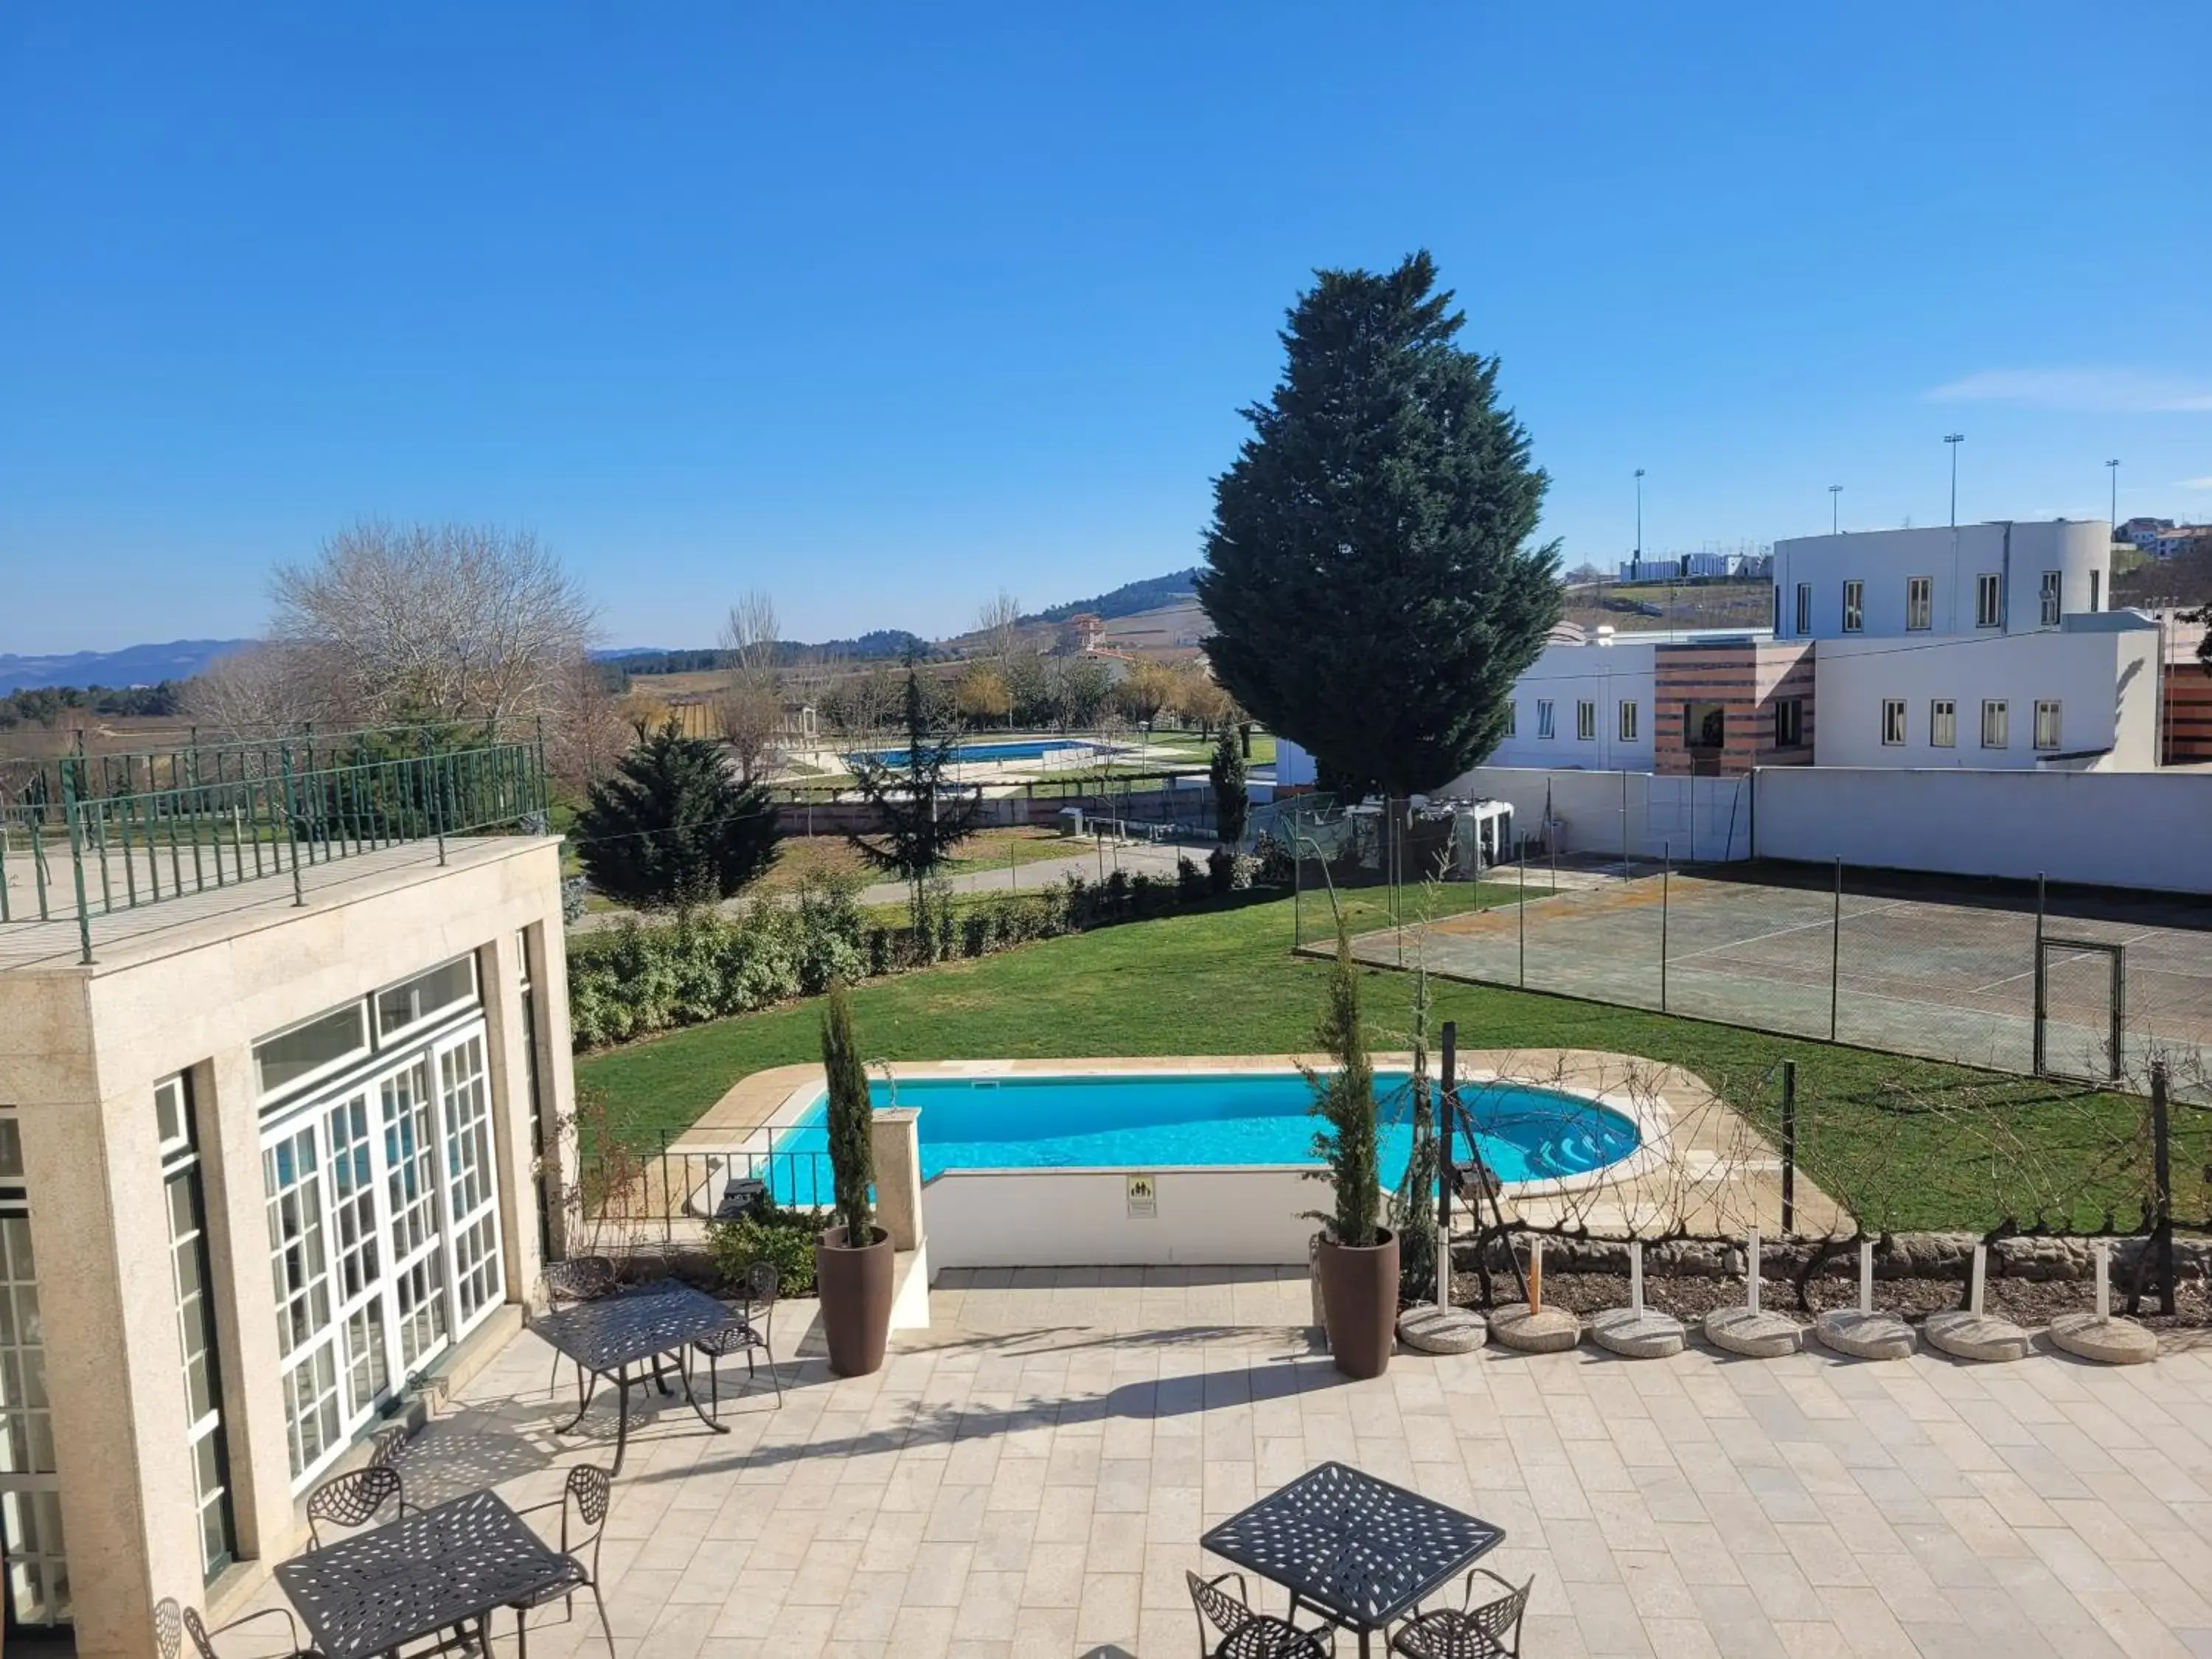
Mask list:
[[[719,743],[668,721],[639,730],[615,774],[591,785],[575,852],[591,885],[624,905],[712,905],[776,863],[776,807],[765,785],[730,774]]]

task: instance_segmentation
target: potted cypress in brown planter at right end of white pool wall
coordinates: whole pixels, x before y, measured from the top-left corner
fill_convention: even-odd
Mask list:
[[[1376,1075],[1360,1031],[1360,980],[1352,967],[1352,940],[1343,927],[1336,929],[1336,967],[1316,1035],[1336,1060],[1329,1073],[1305,1073],[1314,1088],[1314,1117],[1327,1121],[1325,1130],[1314,1133],[1314,1152],[1327,1164],[1327,1172],[1316,1179],[1336,1190],[1336,1210],[1314,1217],[1325,1223],[1314,1252],[1321,1323],[1338,1371],[1354,1378],[1383,1376],[1398,1325],[1398,1237],[1383,1225]]]

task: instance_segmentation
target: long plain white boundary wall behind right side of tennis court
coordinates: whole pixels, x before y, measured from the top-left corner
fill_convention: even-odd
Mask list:
[[[1756,776],[1761,858],[2212,891],[2212,772]]]

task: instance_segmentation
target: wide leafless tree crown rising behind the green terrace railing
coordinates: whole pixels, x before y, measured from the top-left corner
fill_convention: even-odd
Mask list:
[[[363,520],[270,582],[270,641],[334,679],[347,719],[557,717],[593,606],[531,531]]]

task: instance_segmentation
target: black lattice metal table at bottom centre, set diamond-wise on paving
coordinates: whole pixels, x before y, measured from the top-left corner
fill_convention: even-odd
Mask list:
[[[1486,1520],[1394,1486],[1340,1462],[1307,1469],[1252,1509],[1221,1522],[1201,1548],[1290,1590],[1367,1639],[1464,1573],[1504,1540]]]

